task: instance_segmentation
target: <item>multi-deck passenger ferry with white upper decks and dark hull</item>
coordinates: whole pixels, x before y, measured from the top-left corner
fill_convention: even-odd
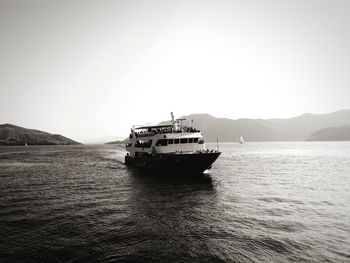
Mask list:
[[[207,149],[200,130],[183,125],[185,119],[171,123],[133,126],[126,143],[125,164],[156,173],[202,174],[220,156]]]

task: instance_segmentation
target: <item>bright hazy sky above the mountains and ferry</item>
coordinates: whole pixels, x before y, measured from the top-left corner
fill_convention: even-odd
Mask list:
[[[350,1],[0,0],[0,123],[83,141],[350,108]]]

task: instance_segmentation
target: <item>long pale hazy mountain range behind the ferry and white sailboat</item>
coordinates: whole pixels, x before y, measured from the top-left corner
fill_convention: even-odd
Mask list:
[[[202,130],[208,142],[239,141],[306,141],[320,129],[350,125],[350,110],[327,114],[306,113],[290,119],[226,119],[209,114],[184,116],[185,124],[193,120],[193,126]],[[166,122],[162,122],[166,123]]]

